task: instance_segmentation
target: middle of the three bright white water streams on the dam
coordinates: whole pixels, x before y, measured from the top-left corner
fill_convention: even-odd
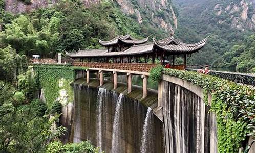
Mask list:
[[[118,134],[120,134],[120,116],[121,116],[121,104],[122,104],[123,94],[121,93],[117,99],[116,109],[115,109],[115,116],[114,116],[114,123],[113,123],[113,131],[112,131],[112,149],[111,152],[119,152],[119,139]]]

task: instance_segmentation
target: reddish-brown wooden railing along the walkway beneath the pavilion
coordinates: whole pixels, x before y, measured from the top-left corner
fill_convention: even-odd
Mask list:
[[[147,64],[147,63],[74,62],[74,66],[102,68],[102,69],[120,69],[120,70],[139,71],[139,72],[149,72],[152,68],[158,65],[159,64]]]

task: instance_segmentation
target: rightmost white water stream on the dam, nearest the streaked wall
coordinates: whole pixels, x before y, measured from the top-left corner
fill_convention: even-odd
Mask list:
[[[141,153],[146,153],[150,152],[147,150],[149,148],[150,140],[149,140],[149,135],[150,134],[150,125],[151,125],[151,108],[148,107],[147,112],[146,112],[146,118],[144,120],[144,125],[143,125],[143,135],[141,138],[141,146],[140,146],[140,152]]]

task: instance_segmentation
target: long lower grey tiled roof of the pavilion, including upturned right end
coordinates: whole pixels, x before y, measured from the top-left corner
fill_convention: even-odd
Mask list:
[[[125,37],[129,37],[128,35],[122,36],[123,39]],[[208,37],[207,37],[208,38]],[[152,43],[144,43],[139,45],[132,45],[124,51],[120,52],[108,52],[108,49],[86,49],[86,50],[78,50],[75,53],[66,54],[69,57],[114,57],[114,56],[129,56],[129,55],[141,55],[152,53],[154,50],[159,52],[163,51],[166,54],[191,54],[198,52],[206,43],[207,38],[202,41],[194,44],[183,43],[174,37],[168,37],[162,40],[157,41],[153,38]]]

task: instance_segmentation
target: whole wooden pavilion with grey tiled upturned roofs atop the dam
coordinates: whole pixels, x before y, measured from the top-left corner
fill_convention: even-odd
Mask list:
[[[207,37],[208,38],[208,37]],[[207,38],[195,44],[183,43],[173,36],[162,40],[156,40],[153,37],[153,42],[147,42],[145,39],[135,39],[130,35],[117,36],[109,41],[99,43],[105,47],[104,49],[86,49],[78,50],[75,53],[66,52],[71,59],[80,62],[104,62],[104,63],[141,63],[141,58],[144,58],[142,63],[155,63],[155,59],[159,59],[161,65],[166,59],[172,59],[170,68],[185,69],[186,58],[191,54],[198,52],[204,47]],[[183,56],[184,64],[175,65],[175,56]]]

